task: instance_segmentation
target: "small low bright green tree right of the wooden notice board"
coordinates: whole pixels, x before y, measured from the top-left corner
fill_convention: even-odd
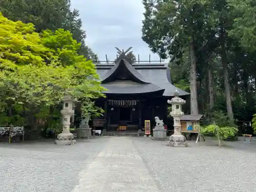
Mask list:
[[[236,127],[220,127],[217,124],[210,124],[205,127],[201,127],[202,134],[213,134],[219,141],[219,147],[221,147],[221,142],[228,137],[236,135],[238,129]]]

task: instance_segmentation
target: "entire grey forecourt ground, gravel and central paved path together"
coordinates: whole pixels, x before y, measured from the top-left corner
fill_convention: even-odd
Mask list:
[[[213,145],[126,137],[0,144],[0,191],[256,191],[256,142]]]

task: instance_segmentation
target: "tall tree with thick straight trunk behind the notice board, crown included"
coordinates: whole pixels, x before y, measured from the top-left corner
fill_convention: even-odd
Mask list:
[[[207,1],[143,0],[145,8],[142,39],[160,57],[179,62],[189,50],[191,114],[198,114],[196,50],[204,44],[202,35],[211,31],[212,19]]]

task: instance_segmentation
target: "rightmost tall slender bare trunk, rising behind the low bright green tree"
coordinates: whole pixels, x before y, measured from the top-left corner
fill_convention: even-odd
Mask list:
[[[228,78],[228,70],[227,70],[227,55],[226,55],[226,32],[221,27],[221,64],[223,68],[223,78],[224,78],[224,88],[225,88],[225,96],[226,96],[226,107],[227,107],[227,116],[233,122],[233,110],[231,103],[231,95],[229,88],[229,78]]]

